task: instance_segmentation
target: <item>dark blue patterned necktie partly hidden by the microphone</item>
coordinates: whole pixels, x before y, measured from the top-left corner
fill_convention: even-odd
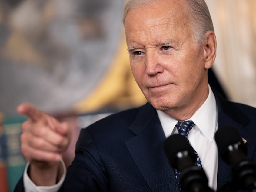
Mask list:
[[[179,134],[183,135],[187,139],[187,141],[188,141],[188,133],[192,129],[192,127],[194,127],[194,125],[195,125],[194,122],[191,121],[191,120],[188,120],[188,121],[178,121],[178,123],[176,124],[176,127],[178,129]],[[198,167],[202,167],[202,164],[201,164],[201,161],[200,161],[200,159],[198,157],[197,152],[195,150],[194,150],[194,152],[195,152],[195,155],[196,155],[196,165]],[[178,170],[175,169],[175,177],[176,177],[177,182],[178,182],[178,175],[179,174],[180,173],[178,172]],[[178,184],[179,184],[179,182],[178,182]],[[181,190],[180,184],[179,184],[179,187],[180,187],[180,190]]]

